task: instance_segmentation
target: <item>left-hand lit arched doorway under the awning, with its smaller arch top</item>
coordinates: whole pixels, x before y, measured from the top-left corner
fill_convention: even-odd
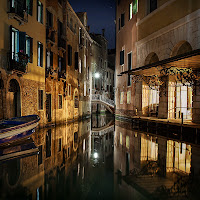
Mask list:
[[[150,53],[144,64],[152,64],[158,62],[158,56],[156,53]],[[144,115],[158,114],[158,104],[159,104],[159,90],[157,88],[150,88],[145,82],[142,84],[142,113]]]

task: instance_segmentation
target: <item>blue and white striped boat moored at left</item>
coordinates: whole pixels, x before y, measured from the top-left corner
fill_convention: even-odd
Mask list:
[[[0,122],[0,145],[29,137],[37,127],[38,115],[15,117]]]

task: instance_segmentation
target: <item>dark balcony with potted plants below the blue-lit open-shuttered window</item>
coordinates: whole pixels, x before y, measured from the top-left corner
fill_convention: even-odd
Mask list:
[[[17,74],[26,73],[28,58],[28,55],[21,52],[14,55],[8,53],[8,71],[16,72]]]

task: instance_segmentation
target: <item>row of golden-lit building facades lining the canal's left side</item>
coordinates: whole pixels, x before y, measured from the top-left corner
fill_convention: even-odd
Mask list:
[[[37,114],[46,126],[90,116],[87,13],[66,0],[3,0],[0,9],[0,119]]]

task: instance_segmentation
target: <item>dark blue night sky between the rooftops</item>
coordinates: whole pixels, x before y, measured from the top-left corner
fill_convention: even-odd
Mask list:
[[[115,0],[69,0],[75,12],[87,12],[90,32],[102,33],[108,48],[115,48]]]

